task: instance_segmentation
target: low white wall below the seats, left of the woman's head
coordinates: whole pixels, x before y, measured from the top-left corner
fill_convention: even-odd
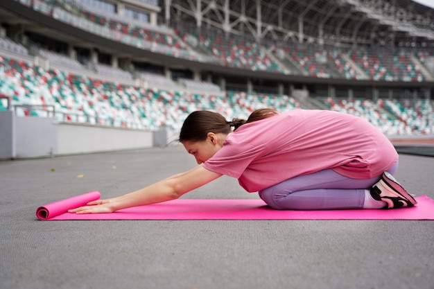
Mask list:
[[[0,112],[0,159],[49,157],[164,146],[165,131],[150,132]]]

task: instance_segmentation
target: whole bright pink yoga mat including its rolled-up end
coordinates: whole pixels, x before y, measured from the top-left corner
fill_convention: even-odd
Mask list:
[[[416,198],[415,207],[401,209],[279,211],[262,200],[178,199],[114,213],[67,213],[98,198],[95,191],[46,204],[36,216],[40,220],[434,220],[434,200],[426,195]]]

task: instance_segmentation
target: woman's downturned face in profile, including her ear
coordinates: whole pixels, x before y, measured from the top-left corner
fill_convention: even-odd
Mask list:
[[[184,141],[182,144],[186,151],[195,157],[198,164],[207,161],[223,147],[223,141],[212,132],[208,134],[205,141]]]

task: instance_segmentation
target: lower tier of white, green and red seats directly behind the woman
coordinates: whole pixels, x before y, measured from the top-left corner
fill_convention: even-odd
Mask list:
[[[105,82],[1,57],[0,92],[13,96],[12,105],[53,105],[60,121],[75,121],[125,128],[159,130],[180,128],[194,110],[214,110],[228,118],[247,117],[261,107],[293,110],[302,105],[288,96],[230,93],[227,96],[191,94],[187,91],[141,89]],[[165,78],[164,78],[165,79]],[[331,110],[361,116],[385,134],[432,134],[434,108],[429,100],[326,98]],[[41,110],[20,107],[19,116],[46,116]]]

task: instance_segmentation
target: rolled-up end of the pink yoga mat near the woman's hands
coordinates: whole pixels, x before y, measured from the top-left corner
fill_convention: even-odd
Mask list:
[[[40,220],[50,220],[61,213],[66,213],[69,209],[75,209],[77,207],[85,206],[88,202],[98,200],[101,197],[101,193],[93,191],[85,193],[83,195],[77,195],[72,198],[46,204],[36,209],[36,218]]]

